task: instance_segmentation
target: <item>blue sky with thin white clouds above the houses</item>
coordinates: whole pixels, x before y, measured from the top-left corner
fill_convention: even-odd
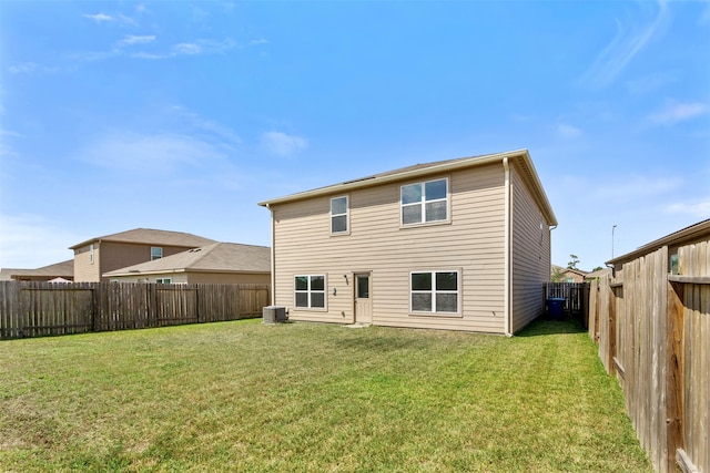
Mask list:
[[[708,1],[0,1],[0,266],[528,148],[591,269],[710,217]]]

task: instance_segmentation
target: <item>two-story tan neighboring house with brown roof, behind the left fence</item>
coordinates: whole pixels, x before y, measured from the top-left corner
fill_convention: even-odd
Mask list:
[[[192,234],[150,228],[91,238],[70,247],[74,250],[74,280],[108,281],[101,276],[104,273],[213,243],[216,241]]]

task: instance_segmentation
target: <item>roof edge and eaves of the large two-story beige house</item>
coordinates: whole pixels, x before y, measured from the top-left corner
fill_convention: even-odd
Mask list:
[[[300,192],[291,194],[284,197],[273,198],[271,200],[260,202],[258,205],[268,207],[277,204],[285,204],[290,202],[296,202],[305,198],[324,196],[328,194],[342,193],[353,191],[357,188],[376,186],[385,183],[392,183],[396,181],[403,181],[407,178],[419,177],[434,173],[449,172],[454,169],[462,169],[467,167],[480,166],[490,163],[503,162],[504,158],[515,161],[519,164],[524,172],[523,178],[530,185],[532,195],[537,200],[542,214],[546,216],[549,225],[557,225],[557,217],[552,207],[545,194],[542,184],[535,171],[532,160],[527,150],[517,150],[505,153],[485,154],[480,156],[458,157],[455,160],[436,161],[433,163],[415,164],[413,166],[400,167],[393,171],[387,171],[379,174],[374,174],[367,177],[361,177],[358,179],[346,181],[344,183],[334,184],[325,187],[318,187],[312,191]]]

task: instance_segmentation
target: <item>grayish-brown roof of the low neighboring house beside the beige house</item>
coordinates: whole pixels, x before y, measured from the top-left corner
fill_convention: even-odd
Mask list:
[[[214,243],[176,255],[141,263],[104,277],[163,273],[270,273],[271,248],[267,246]]]

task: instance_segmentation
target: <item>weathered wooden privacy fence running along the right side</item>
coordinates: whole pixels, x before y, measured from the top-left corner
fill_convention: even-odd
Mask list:
[[[710,472],[710,241],[662,247],[592,282],[589,333],[657,471]]]

